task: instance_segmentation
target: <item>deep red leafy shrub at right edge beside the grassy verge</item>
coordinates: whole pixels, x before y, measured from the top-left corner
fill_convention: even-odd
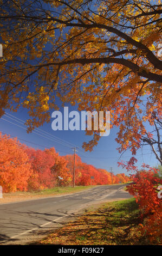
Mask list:
[[[123,166],[125,164],[122,163]],[[132,169],[128,163],[127,169]],[[162,184],[162,180],[157,178],[155,174],[157,170],[142,164],[141,170],[137,167],[133,168],[135,174],[132,175],[133,184],[127,186],[127,191],[132,194],[141,210],[141,221],[139,230],[148,236],[151,242],[162,242],[162,211],[161,199],[158,197],[158,186]],[[143,221],[144,220],[144,221]]]

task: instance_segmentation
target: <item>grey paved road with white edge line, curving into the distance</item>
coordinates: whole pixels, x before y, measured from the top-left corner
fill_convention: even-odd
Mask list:
[[[98,186],[61,197],[0,205],[0,244],[26,244],[79,216],[87,205],[130,198],[123,185]]]

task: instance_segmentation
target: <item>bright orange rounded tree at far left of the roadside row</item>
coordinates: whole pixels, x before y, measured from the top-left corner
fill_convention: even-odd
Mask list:
[[[21,143],[0,133],[0,151],[0,185],[3,192],[27,191],[33,170]]]

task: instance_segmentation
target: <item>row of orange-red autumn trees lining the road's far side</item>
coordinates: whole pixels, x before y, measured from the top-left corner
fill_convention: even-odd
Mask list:
[[[54,148],[40,150],[28,148],[16,138],[0,133],[0,185],[3,192],[43,190],[57,186],[61,176],[62,186],[73,182],[73,155],[59,156]],[[76,155],[75,185],[112,184],[111,173],[83,163]],[[94,179],[91,179],[91,177]],[[127,182],[125,174],[113,175],[113,183]]]

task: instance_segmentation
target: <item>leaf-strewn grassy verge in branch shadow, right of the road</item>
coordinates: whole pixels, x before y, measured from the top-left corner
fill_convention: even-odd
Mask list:
[[[104,203],[35,244],[149,245],[147,237],[137,231],[139,215],[134,198]]]

